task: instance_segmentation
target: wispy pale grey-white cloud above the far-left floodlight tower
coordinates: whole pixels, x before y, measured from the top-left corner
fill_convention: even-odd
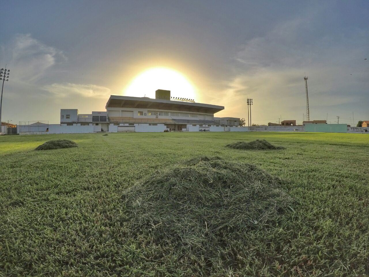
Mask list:
[[[45,45],[31,34],[17,34],[7,45],[2,46],[3,57],[11,68],[11,79],[33,83],[41,78],[51,66],[66,60],[63,52]],[[6,55],[4,55],[6,52]]]

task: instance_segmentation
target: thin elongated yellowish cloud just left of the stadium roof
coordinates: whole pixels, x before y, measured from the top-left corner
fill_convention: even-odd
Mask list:
[[[42,89],[59,98],[66,98],[73,95],[86,98],[108,98],[110,96],[110,89],[91,84],[53,83],[52,85],[44,86]]]

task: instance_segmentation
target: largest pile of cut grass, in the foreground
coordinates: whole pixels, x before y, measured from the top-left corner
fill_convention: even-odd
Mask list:
[[[275,228],[291,211],[282,184],[252,164],[199,157],[154,172],[122,199],[146,258],[177,257],[196,275],[246,266],[237,252],[248,233]]]

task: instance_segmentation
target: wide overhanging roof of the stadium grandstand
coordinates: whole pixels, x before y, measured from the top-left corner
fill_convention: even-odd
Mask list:
[[[106,103],[106,109],[114,108],[137,108],[137,109],[157,109],[157,110],[173,110],[182,112],[197,112],[197,113],[216,113],[224,110],[223,106],[182,102],[166,99],[152,99],[148,97],[131,97],[110,95]]]

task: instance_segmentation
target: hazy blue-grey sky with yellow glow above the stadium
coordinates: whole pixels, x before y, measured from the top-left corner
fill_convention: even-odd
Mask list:
[[[59,123],[60,109],[151,96],[128,88],[159,67],[180,73],[196,102],[224,106],[215,116],[247,120],[252,98],[256,124],[301,123],[306,75],[310,120],[356,124],[369,120],[368,14],[367,0],[8,1],[2,120]],[[167,77],[158,89],[178,93]]]

